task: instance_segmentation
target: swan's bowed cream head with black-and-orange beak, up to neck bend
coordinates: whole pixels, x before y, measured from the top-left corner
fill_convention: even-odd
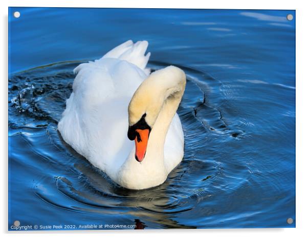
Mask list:
[[[185,84],[186,76],[183,70],[168,66],[152,73],[134,93],[128,105],[127,136],[130,140],[135,140],[137,161],[141,162],[144,159],[150,132],[165,102],[174,101],[175,113]]]

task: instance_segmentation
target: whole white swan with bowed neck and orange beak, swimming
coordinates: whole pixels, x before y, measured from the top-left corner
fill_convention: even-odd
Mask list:
[[[149,74],[147,46],[147,41],[129,40],[101,59],[77,66],[58,124],[65,142],[130,189],[163,183],[184,155],[176,111],[185,73],[168,66]]]

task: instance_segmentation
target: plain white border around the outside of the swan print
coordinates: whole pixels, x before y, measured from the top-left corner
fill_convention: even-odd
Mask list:
[[[46,237],[53,237],[54,235],[74,235],[74,237],[84,237],[85,235],[93,235],[102,237],[105,235],[115,235],[116,237],[167,237],[176,235],[184,237],[187,235],[194,236],[227,236],[229,237],[245,237],[249,235],[250,238],[260,236],[278,236],[283,237],[303,237],[307,233],[307,161],[308,154],[305,150],[307,147],[307,27],[308,23],[307,8],[304,1],[69,1],[69,0],[45,0],[45,1],[1,1],[1,136],[0,145],[2,152],[2,196],[0,196],[2,204],[1,231],[4,236],[21,237],[24,235],[41,236],[42,233]],[[205,8],[205,9],[290,9],[296,10],[296,226],[297,228],[285,229],[204,229],[204,230],[113,230],[113,231],[28,231],[28,232],[8,232],[8,7],[123,7],[123,8]],[[277,161],[278,163],[279,161]],[[22,195],[21,195],[22,196]]]

